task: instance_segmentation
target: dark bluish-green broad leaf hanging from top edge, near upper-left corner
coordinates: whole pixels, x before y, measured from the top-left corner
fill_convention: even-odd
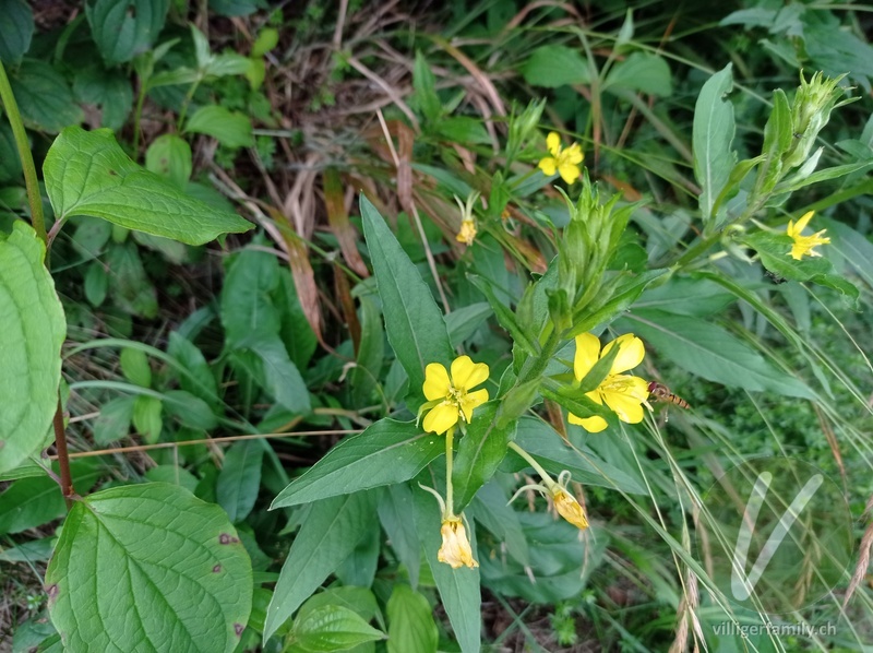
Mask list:
[[[107,63],[145,51],[164,27],[169,0],[87,0],[91,35]]]

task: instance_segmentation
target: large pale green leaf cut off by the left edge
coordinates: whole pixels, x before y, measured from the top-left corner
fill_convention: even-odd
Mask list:
[[[45,446],[58,407],[67,320],[45,256],[22,221],[0,236],[0,473]]]

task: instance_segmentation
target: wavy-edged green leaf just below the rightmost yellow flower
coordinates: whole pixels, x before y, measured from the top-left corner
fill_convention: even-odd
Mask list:
[[[748,236],[743,242],[761,256],[761,262],[770,272],[790,281],[811,281],[820,286],[834,288],[842,295],[846,304],[858,310],[858,287],[837,274],[830,261],[825,258],[805,257],[800,261],[794,260],[790,256],[792,240],[786,234],[758,231]]]

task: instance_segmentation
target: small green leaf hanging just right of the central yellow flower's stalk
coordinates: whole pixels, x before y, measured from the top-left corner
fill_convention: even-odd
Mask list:
[[[500,402],[488,402],[476,409],[467,432],[461,438],[452,468],[455,510],[461,512],[476,491],[491,479],[500,461],[506,455],[506,444],[515,435],[516,422],[499,427]]]

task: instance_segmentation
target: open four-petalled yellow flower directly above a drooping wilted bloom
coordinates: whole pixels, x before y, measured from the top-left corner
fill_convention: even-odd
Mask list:
[[[424,430],[444,434],[464,419],[469,424],[473,409],[488,401],[488,390],[470,392],[479,383],[488,379],[488,366],[474,363],[469,356],[458,356],[452,361],[452,377],[445,367],[431,363],[424,368],[422,390],[428,404],[422,408],[431,408],[424,417]]]

